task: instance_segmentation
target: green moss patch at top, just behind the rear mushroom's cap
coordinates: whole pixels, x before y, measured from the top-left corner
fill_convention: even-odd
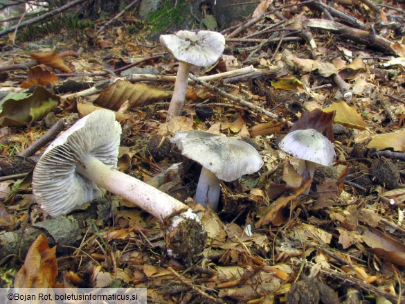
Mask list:
[[[183,22],[185,6],[184,1],[177,1],[177,6],[174,6],[171,1],[166,0],[157,10],[150,13],[145,24],[150,26],[154,33],[161,33],[170,26],[179,25]]]

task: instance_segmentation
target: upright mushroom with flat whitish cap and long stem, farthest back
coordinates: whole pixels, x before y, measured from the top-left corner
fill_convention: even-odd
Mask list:
[[[180,30],[176,35],[161,35],[160,41],[163,47],[180,62],[166,118],[170,120],[181,114],[186,98],[190,64],[195,66],[214,64],[224,51],[225,38],[221,33],[209,30],[196,32]]]

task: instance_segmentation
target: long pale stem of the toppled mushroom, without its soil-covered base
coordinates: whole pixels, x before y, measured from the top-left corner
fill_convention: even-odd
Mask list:
[[[188,206],[160,190],[145,184],[123,172],[109,168],[87,154],[83,159],[84,166],[78,166],[80,175],[96,183],[100,188],[127,199],[157,217],[162,222],[170,217],[188,210]]]

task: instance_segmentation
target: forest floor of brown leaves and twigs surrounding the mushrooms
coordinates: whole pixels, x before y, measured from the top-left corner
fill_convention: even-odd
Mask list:
[[[62,30],[18,48],[18,31],[3,37],[0,287],[145,287],[150,303],[405,303],[405,5],[279,2],[222,31],[224,55],[191,69],[212,77],[190,80],[168,122],[178,62],[128,31],[125,14],[77,40]],[[201,253],[171,258],[165,226],[116,195],[55,219],[35,204],[48,141],[97,107],[123,128],[118,170],[201,217]],[[323,133],[332,166],[299,175],[279,147],[291,127]],[[222,182],[218,212],[196,206],[201,166],[170,143],[181,130],[239,138],[264,165]]]

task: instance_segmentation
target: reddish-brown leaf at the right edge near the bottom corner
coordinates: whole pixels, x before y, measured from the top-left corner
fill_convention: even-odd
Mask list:
[[[361,239],[370,247],[369,250],[380,258],[405,266],[405,244],[374,228],[363,229]]]

